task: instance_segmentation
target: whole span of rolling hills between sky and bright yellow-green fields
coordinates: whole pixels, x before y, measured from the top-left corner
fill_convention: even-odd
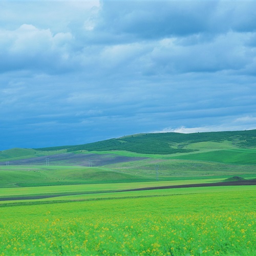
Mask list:
[[[137,134],[89,144],[0,152],[0,186],[230,176],[256,177],[256,130]]]

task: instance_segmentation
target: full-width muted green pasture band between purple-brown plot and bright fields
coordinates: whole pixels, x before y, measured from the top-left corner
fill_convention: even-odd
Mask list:
[[[145,159],[102,167],[0,166],[0,187],[35,187],[76,184],[132,183],[158,180],[200,180],[241,176],[254,178],[256,165],[168,159]],[[102,185],[104,186],[104,185]]]

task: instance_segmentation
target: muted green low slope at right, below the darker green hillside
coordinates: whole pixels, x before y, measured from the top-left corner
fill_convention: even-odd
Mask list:
[[[243,176],[256,174],[256,165],[252,164],[234,165],[212,161],[201,161],[196,159],[190,160],[176,158],[145,159],[141,161],[123,162],[108,165],[108,168],[127,174],[140,174],[141,176],[148,178],[151,177],[152,179],[155,178],[156,170],[158,170],[160,180],[168,178],[173,179],[175,177],[192,178],[209,176]]]

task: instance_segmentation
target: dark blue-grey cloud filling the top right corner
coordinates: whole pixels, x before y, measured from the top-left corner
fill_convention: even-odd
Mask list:
[[[220,34],[254,30],[254,2],[225,1],[102,1],[98,30],[114,36],[126,34],[134,40]],[[227,18],[228,16],[228,18]]]

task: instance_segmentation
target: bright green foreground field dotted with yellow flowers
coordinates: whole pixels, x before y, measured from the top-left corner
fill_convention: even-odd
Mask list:
[[[155,197],[6,204],[0,254],[256,255],[255,186],[184,195],[171,190]]]

